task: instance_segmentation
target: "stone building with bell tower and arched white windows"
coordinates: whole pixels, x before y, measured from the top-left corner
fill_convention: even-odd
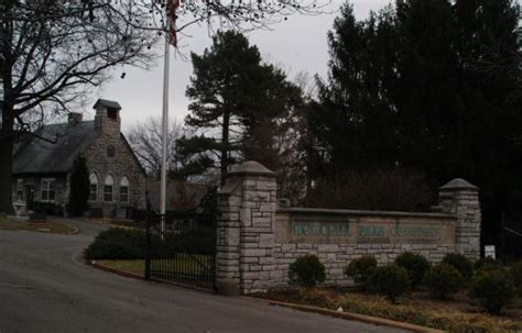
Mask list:
[[[144,208],[145,173],[121,133],[121,107],[99,99],[94,121],[70,113],[67,123],[48,124],[14,151],[13,202],[31,210],[43,203],[66,208],[73,163],[81,155],[89,169],[89,210],[121,218]]]

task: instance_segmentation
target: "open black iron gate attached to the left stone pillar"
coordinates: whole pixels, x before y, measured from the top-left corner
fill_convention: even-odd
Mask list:
[[[216,190],[192,211],[151,214],[145,279],[216,289]]]

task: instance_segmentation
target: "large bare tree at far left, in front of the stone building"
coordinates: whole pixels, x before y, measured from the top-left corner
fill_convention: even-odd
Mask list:
[[[149,67],[156,33],[133,27],[118,8],[85,1],[0,0],[0,211],[12,211],[13,144],[50,116],[83,103],[119,64]],[[41,137],[53,141],[53,137]]]

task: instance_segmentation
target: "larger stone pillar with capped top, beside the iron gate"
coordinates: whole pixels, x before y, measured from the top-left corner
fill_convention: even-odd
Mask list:
[[[227,176],[219,191],[217,285],[250,293],[272,286],[275,269],[275,174],[244,162]]]

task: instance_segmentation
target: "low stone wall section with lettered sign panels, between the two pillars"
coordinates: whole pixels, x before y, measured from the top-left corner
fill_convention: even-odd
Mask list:
[[[279,209],[275,219],[274,258],[285,285],[289,265],[314,254],[325,265],[326,284],[348,285],[342,268],[362,255],[379,264],[412,251],[431,262],[455,252],[457,218],[442,213],[372,212],[322,209]]]

